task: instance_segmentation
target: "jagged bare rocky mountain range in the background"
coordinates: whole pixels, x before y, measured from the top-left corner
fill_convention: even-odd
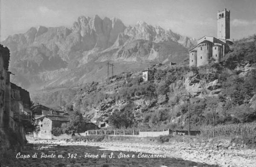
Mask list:
[[[195,39],[145,22],[125,26],[115,17],[95,15],[78,17],[72,28],[32,27],[2,43],[11,52],[12,82],[38,90],[101,81],[107,78],[108,61],[114,75],[152,63],[181,63]]]

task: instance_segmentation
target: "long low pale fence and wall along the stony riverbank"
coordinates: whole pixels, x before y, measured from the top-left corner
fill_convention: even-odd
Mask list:
[[[122,135],[133,137],[157,137],[160,135],[188,135],[188,130],[163,130],[163,131],[140,131],[140,130],[87,130],[80,135]],[[190,135],[200,135],[200,130],[190,130]]]

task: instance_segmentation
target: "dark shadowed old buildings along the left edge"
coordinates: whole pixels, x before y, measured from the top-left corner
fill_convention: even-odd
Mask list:
[[[10,82],[10,51],[0,45],[0,156],[22,149],[25,128],[32,121],[29,92]]]

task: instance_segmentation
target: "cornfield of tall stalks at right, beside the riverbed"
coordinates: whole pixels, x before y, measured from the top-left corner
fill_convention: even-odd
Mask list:
[[[200,130],[201,135],[210,137],[213,135],[212,125],[202,126]],[[255,136],[256,123],[216,125],[214,132],[215,136]]]

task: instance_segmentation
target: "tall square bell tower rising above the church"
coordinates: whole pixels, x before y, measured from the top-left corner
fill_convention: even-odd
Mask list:
[[[224,9],[217,14],[217,38],[230,39],[230,11]]]

